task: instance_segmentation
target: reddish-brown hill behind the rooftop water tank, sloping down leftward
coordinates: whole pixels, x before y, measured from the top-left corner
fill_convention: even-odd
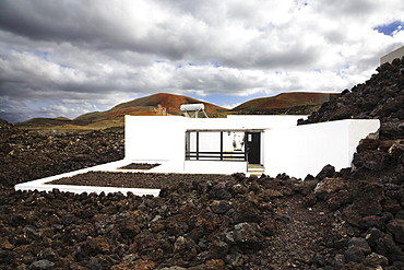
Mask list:
[[[228,109],[192,97],[159,93],[131,102],[121,103],[106,111],[94,111],[81,115],[73,120],[68,118],[33,118],[15,124],[20,128],[28,129],[103,129],[109,127],[123,127],[124,115],[154,116],[154,115],[181,115],[182,104],[203,103],[210,116],[226,114]]]

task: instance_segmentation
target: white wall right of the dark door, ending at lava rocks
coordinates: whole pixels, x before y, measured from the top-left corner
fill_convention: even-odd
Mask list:
[[[340,120],[265,130],[265,174],[305,178],[328,164],[336,171],[350,167],[360,139],[379,127],[379,120]]]

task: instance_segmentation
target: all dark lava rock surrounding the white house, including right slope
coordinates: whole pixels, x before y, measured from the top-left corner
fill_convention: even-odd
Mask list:
[[[14,191],[122,159],[123,132],[38,133],[0,122],[1,269],[404,269],[404,59],[308,120],[378,118],[354,167],[305,181],[170,175],[161,196]],[[154,181],[154,179],[150,179]]]

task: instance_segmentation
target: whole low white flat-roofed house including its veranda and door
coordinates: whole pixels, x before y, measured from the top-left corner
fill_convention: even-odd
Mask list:
[[[305,178],[324,165],[350,167],[356,146],[379,120],[297,126],[302,116],[126,116],[126,160],[159,163],[150,172],[264,173]]]

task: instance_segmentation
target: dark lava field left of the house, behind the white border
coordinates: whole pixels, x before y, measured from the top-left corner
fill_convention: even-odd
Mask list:
[[[54,133],[21,130],[0,120],[1,186],[123,159],[123,130]]]

